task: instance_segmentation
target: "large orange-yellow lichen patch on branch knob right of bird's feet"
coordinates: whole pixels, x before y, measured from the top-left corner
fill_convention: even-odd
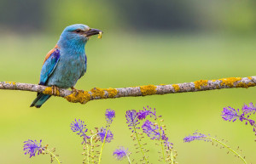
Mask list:
[[[78,92],[73,92],[64,98],[67,99],[67,101],[72,103],[79,102],[81,104],[85,104],[88,101],[90,101],[90,93],[88,93],[88,91],[78,90]]]

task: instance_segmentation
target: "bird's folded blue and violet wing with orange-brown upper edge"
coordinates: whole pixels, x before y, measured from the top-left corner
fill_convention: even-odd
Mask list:
[[[40,82],[39,85],[45,85],[47,80],[49,79],[49,76],[52,74],[52,72],[55,70],[56,65],[58,64],[58,61],[60,59],[60,49],[56,45],[55,48],[49,51],[48,54],[46,54],[46,57],[44,59],[44,65],[41,70],[40,74]]]

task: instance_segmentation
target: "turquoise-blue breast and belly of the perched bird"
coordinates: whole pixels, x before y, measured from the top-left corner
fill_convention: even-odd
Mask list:
[[[86,56],[84,51],[71,52],[61,49],[61,57],[46,85],[59,88],[71,88],[86,71]]]

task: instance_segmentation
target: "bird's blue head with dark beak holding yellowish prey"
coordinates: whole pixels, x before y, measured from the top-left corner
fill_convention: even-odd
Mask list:
[[[92,29],[88,25],[75,24],[67,26],[61,34],[61,41],[75,44],[85,43],[91,36],[99,34],[100,30]]]

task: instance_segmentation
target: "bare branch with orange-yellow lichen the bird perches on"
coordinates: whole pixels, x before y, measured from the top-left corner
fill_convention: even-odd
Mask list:
[[[0,82],[0,89],[23,90],[55,95],[69,102],[86,104],[94,99],[113,99],[121,97],[137,97],[166,93],[187,93],[224,88],[249,88],[256,86],[256,76],[229,77],[218,80],[199,80],[178,84],[147,85],[130,88],[92,88],[90,91],[72,92],[58,89],[55,94],[51,87],[19,82]]]

